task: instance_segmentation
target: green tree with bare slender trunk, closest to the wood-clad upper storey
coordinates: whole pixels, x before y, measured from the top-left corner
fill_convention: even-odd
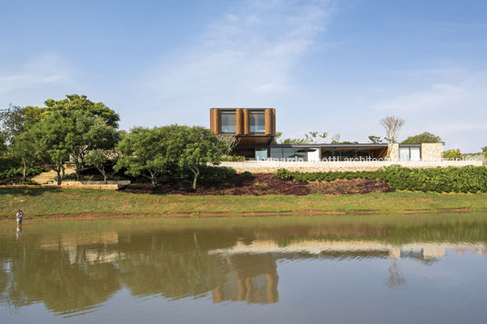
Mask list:
[[[201,167],[207,163],[217,164],[222,154],[228,151],[225,142],[204,127],[173,126],[169,142],[170,152],[177,153],[177,164],[194,173],[193,189],[196,189]]]

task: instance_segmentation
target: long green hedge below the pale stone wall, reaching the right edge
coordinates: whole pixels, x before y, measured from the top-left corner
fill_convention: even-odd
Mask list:
[[[487,168],[404,168],[393,165],[372,172],[289,172],[279,169],[274,177],[297,182],[332,182],[336,179],[377,179],[393,190],[435,192],[487,192]]]

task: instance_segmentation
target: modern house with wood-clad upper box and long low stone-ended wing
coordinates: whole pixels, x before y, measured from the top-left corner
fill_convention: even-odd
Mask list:
[[[212,108],[210,129],[217,135],[235,136],[238,144],[233,154],[250,161],[441,161],[443,152],[442,143],[278,144],[273,108]]]

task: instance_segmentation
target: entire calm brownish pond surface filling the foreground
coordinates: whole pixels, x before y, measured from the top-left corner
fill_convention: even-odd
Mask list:
[[[0,322],[485,323],[487,213],[0,223]]]

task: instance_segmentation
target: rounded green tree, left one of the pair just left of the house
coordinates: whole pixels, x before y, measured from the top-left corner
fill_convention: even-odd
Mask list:
[[[171,127],[135,127],[125,134],[117,145],[121,157],[115,164],[115,171],[125,169],[126,174],[143,176],[152,182],[154,188],[157,187],[159,177],[175,164],[176,153],[168,151]]]

